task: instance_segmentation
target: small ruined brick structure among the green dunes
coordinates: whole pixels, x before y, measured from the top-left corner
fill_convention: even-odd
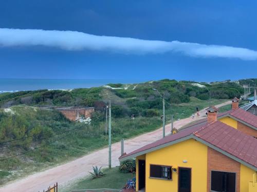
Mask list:
[[[54,109],[60,111],[67,119],[71,121],[91,117],[91,114],[95,111],[95,108],[85,106],[67,106]]]

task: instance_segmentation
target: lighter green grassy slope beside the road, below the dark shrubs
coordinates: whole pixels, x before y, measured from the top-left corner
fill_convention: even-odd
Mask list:
[[[11,112],[0,110],[0,135],[5,138],[1,141],[19,139],[24,136],[33,137],[25,141],[8,143],[8,145],[0,144],[0,148],[15,146],[1,150],[1,159],[27,152],[38,146],[45,146],[22,156],[1,161],[0,170],[10,172],[10,174],[9,177],[4,177],[7,175],[1,177],[0,184],[24,177],[31,171],[39,171],[42,168],[83,156],[108,143],[108,136],[104,135],[105,124],[100,112],[96,112],[92,123],[86,125],[70,122],[57,111],[40,110],[30,106],[13,106],[10,109]],[[118,142],[121,138],[131,138],[153,131],[160,125],[161,121],[158,117],[152,118],[151,121],[146,117],[134,120],[113,118],[112,141]],[[68,130],[72,131],[66,132]],[[59,134],[63,132],[66,133]],[[47,139],[48,137],[51,138]]]

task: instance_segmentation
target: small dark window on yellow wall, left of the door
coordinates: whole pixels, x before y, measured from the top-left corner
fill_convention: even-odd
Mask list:
[[[150,177],[171,180],[171,166],[150,165]]]

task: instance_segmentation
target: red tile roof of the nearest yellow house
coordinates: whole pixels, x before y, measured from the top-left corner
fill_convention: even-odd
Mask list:
[[[219,148],[223,152],[226,152],[231,156],[234,156],[237,159],[257,168],[257,139],[220,121],[205,125],[203,125],[203,123],[192,125],[188,129],[182,130],[175,135],[164,137],[163,139],[145,145],[134,152],[123,155],[119,159],[133,156],[140,152],[143,153],[146,150],[151,150],[154,147],[158,147],[162,144],[170,143],[187,136],[191,136],[192,138],[197,137],[200,140]]]

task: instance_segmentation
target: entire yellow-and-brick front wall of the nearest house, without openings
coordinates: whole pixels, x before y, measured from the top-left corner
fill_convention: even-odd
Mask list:
[[[254,170],[219,153],[212,148],[189,139],[137,157],[136,180],[138,181],[138,160],[145,160],[145,191],[178,191],[178,172],[172,172],[172,180],[150,178],[150,164],[167,165],[173,168],[191,168],[192,192],[210,191],[211,170],[236,173],[236,192],[248,192]],[[187,163],[183,163],[187,160]],[[178,169],[177,169],[178,170]],[[256,183],[257,185],[257,183]],[[138,182],[136,182],[138,191]]]

